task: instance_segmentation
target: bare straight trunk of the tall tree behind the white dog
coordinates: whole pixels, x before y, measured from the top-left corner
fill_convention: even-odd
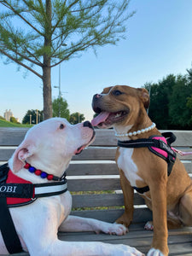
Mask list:
[[[46,0],[46,20],[44,33],[44,67],[43,67],[43,84],[44,84],[44,119],[52,117],[52,96],[51,96],[51,79],[50,79],[50,58],[51,58],[51,0]]]

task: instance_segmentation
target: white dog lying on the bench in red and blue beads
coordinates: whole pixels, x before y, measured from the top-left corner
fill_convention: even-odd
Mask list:
[[[33,199],[32,203],[26,203],[26,206],[9,207],[20,245],[31,256],[143,255],[134,247],[125,245],[109,245],[97,241],[58,240],[58,229],[60,231],[102,231],[116,235],[126,233],[125,226],[121,224],[108,224],[96,219],[69,216],[72,197],[66,191],[65,179],[56,181],[58,177],[63,176],[73,155],[79,154],[93,142],[94,138],[95,131],[88,121],[70,125],[66,119],[48,119],[33,126],[26,133],[24,141],[20,143],[9,160],[10,181],[12,177],[16,177],[32,185],[35,183],[36,188],[32,192],[34,197],[44,193],[54,193],[55,190],[60,194],[60,190],[63,190],[61,195],[39,197],[37,200]],[[28,169],[29,166],[31,169]],[[7,193],[15,192],[17,186],[14,187],[12,184],[5,187],[1,184],[0,189],[0,192],[5,189]],[[2,234],[1,231],[0,254],[9,254]]]

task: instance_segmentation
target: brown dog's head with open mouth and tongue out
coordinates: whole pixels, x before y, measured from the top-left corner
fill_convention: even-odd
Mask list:
[[[98,113],[91,124],[99,128],[134,125],[138,116],[148,108],[148,90],[126,85],[105,88],[93,96],[92,108]]]

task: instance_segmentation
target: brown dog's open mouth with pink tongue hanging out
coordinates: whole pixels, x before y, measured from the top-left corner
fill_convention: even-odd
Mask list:
[[[91,125],[105,128],[110,125],[113,125],[114,123],[122,121],[123,119],[125,119],[126,115],[127,112],[125,110],[114,113],[102,111],[96,116],[95,119],[92,119]]]

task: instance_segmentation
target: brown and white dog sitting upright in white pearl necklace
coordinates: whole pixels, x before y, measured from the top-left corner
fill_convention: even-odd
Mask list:
[[[99,115],[92,125],[113,127],[119,141],[160,137],[160,131],[149,119],[148,90],[125,85],[105,88],[93,96],[92,108]],[[176,158],[172,173],[167,177],[167,162],[148,148],[117,148],[116,163],[125,200],[125,213],[117,223],[131,224],[133,218],[133,187],[148,186],[143,193],[153,211],[154,238],[148,256],[167,255],[167,226],[176,228],[192,225],[192,182],[183,164]]]

